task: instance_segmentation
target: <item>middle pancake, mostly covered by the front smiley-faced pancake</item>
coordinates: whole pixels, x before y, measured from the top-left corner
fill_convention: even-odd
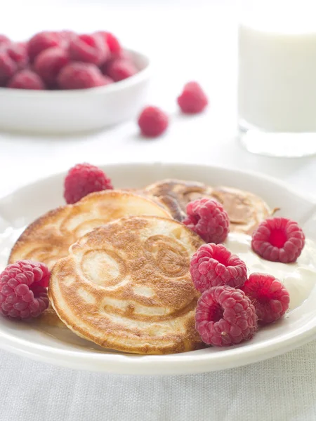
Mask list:
[[[38,260],[52,269],[86,232],[128,215],[170,217],[162,206],[138,194],[115,190],[91,193],[74,205],[51,210],[29,225],[13,246],[8,262]],[[38,320],[50,326],[63,326],[51,307]]]

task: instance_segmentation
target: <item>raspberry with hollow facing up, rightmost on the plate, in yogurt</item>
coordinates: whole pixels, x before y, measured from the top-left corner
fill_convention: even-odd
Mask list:
[[[271,262],[295,262],[304,245],[301,227],[287,218],[268,218],[252,234],[254,252]]]

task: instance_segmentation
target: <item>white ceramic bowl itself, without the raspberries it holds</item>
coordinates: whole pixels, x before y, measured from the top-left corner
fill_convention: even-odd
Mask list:
[[[0,131],[78,133],[131,119],[144,105],[150,61],[130,51],[139,72],[100,88],[32,91],[0,88]]]

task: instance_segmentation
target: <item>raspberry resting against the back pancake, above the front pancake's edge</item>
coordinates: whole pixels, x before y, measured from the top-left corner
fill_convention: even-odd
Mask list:
[[[206,243],[223,243],[230,230],[228,213],[213,199],[197,199],[187,203],[187,218],[183,220]]]

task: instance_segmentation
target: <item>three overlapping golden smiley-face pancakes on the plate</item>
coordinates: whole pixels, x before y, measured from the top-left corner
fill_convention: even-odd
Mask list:
[[[163,180],[143,190],[105,190],[51,210],[21,234],[9,262],[52,270],[41,323],[70,328],[98,345],[137,354],[202,347],[195,330],[199,293],[190,257],[202,239],[181,221],[189,201],[223,203],[232,232],[251,232],[268,215],[258,196],[229,187]]]

